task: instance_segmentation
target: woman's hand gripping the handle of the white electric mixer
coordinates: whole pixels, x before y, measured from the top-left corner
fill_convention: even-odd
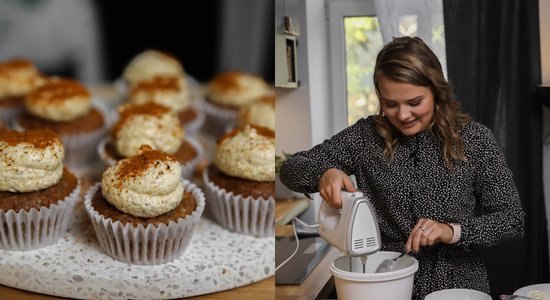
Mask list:
[[[338,169],[328,169],[319,180],[319,194],[330,206],[342,207],[340,192],[342,188],[348,192],[355,192],[356,189],[348,175]]]

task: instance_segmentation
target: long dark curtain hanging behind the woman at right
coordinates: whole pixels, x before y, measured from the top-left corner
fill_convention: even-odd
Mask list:
[[[496,299],[549,281],[538,1],[443,4],[449,81],[462,108],[494,131],[526,213],[523,239],[482,250]]]

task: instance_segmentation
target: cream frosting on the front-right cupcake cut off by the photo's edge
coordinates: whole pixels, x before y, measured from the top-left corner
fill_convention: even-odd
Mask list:
[[[250,126],[236,129],[217,145],[214,164],[229,176],[275,181],[275,138]]]

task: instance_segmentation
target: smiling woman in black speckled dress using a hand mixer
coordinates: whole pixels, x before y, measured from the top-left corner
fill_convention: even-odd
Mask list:
[[[378,115],[293,155],[281,181],[339,207],[355,174],[375,207],[383,250],[410,252],[420,263],[415,299],[449,288],[489,293],[477,249],[523,236],[524,217],[493,133],[460,110],[419,38],[384,46],[373,79]]]

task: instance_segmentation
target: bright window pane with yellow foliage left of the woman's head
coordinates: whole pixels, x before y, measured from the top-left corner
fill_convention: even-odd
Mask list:
[[[382,49],[377,17],[345,17],[348,125],[378,112],[372,83],[376,55]]]

